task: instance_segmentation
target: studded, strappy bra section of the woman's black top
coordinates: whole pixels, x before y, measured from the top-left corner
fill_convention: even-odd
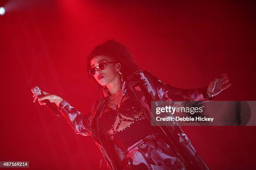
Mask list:
[[[131,127],[134,122],[144,120],[143,115],[143,110],[138,102],[129,97],[128,93],[125,93],[120,100],[119,108],[115,106],[115,109],[113,109],[105,105],[103,115],[100,118],[100,126],[108,130],[110,135],[113,136],[115,133]]]

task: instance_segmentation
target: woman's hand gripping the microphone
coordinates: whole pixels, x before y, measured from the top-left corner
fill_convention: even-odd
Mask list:
[[[57,105],[57,107],[59,107],[59,103],[61,103],[63,101],[63,99],[61,97],[57,96],[57,95],[50,94],[49,92],[44,92],[44,91],[43,91],[43,93],[44,93],[44,96],[39,97],[39,98],[34,94],[33,95],[33,97],[34,97],[33,102],[36,102],[36,99],[38,99],[38,103],[40,105],[46,105],[46,103],[43,102],[42,100],[47,99],[50,102],[54,102]]]

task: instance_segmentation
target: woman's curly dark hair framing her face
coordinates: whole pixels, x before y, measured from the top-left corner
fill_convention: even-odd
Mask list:
[[[139,70],[139,65],[133,60],[130,50],[128,50],[128,48],[120,42],[110,39],[103,42],[101,45],[97,45],[87,57],[87,71],[91,79],[93,78],[93,76],[89,73],[91,68],[91,60],[97,55],[112,57],[116,62],[119,62],[121,64],[120,72],[122,72],[125,79],[129,75],[133,74],[133,72]]]

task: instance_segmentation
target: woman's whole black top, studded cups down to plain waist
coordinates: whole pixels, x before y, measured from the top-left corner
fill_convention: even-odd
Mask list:
[[[144,116],[146,110],[140,107],[132,93],[126,92],[120,100],[120,107],[115,108],[105,106],[100,117],[100,128],[108,131],[113,141],[123,150],[147,135],[156,133]]]

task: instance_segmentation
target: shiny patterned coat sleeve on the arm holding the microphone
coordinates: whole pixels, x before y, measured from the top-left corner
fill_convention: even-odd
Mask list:
[[[92,120],[91,113],[89,115],[83,115],[81,112],[76,110],[66,100],[59,104],[58,110],[69,122],[74,132],[83,136],[91,135],[90,123]]]

